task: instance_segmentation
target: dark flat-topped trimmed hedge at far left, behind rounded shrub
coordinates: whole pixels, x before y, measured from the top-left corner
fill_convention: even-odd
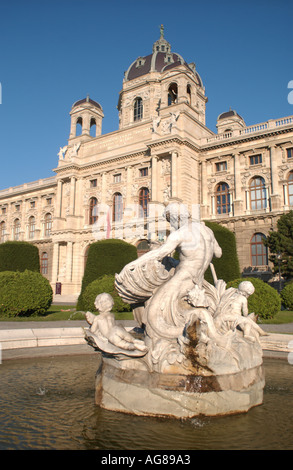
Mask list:
[[[8,241],[0,244],[0,271],[40,272],[39,250],[28,242]]]

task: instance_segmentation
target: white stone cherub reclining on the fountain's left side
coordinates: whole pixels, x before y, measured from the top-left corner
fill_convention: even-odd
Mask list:
[[[135,339],[122,326],[116,325],[115,316],[111,312],[113,308],[113,298],[110,294],[103,293],[96,297],[95,307],[100,312],[94,315],[91,312],[85,314],[87,322],[91,325],[90,330],[104,342],[109,342],[117,348],[128,351],[147,351],[145,343]]]

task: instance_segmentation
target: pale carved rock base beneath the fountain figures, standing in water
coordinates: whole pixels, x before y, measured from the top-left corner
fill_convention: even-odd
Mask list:
[[[262,367],[221,376],[160,374],[126,369],[103,358],[96,375],[96,404],[141,416],[191,418],[247,412],[263,402]]]

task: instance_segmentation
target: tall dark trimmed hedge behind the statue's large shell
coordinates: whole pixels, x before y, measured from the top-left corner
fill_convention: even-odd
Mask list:
[[[82,294],[91,282],[105,274],[120,273],[126,264],[135,259],[137,259],[136,247],[123,240],[109,239],[92,243],[88,251],[77,309],[85,310]]]

